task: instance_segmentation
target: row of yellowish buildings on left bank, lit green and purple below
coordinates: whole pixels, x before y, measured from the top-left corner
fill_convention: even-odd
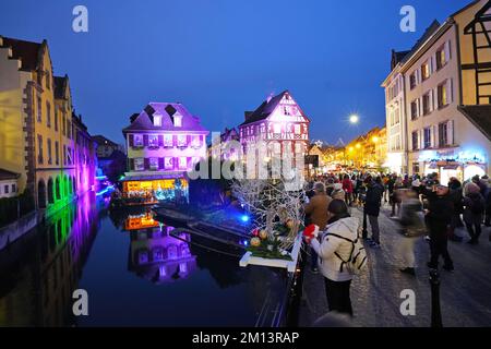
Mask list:
[[[20,173],[19,191],[28,189],[49,215],[92,190],[92,143],[77,142],[86,128],[73,113],[68,76],[53,74],[46,40],[0,37],[0,167]],[[80,165],[77,154],[92,158]]]

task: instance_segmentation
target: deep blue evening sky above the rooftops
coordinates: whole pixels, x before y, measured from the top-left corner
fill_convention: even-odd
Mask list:
[[[122,142],[129,116],[148,101],[181,101],[220,131],[289,89],[311,137],[336,143],[384,124],[391,49],[409,49],[432,20],[469,2],[2,0],[0,35],[48,40],[92,134]],[[88,9],[88,33],[72,31],[76,4]],[[405,4],[416,8],[417,33],[399,29]]]

